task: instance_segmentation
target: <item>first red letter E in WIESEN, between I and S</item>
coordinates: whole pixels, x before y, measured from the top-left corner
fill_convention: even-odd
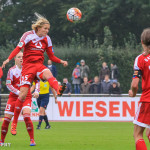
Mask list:
[[[84,101],[83,102],[83,116],[84,117],[93,117],[93,113],[88,113],[87,111],[92,110],[92,107],[88,107],[88,105],[93,105],[92,101]]]

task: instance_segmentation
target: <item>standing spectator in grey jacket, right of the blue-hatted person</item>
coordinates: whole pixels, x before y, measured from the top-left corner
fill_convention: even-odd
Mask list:
[[[87,65],[85,65],[85,61],[83,59],[81,60],[80,72],[81,72],[81,83],[83,83],[83,78],[88,77],[90,73],[90,69]]]

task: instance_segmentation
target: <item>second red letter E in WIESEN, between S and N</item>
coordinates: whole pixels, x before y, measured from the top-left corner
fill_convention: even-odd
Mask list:
[[[120,117],[120,113],[115,113],[114,111],[119,110],[119,107],[115,107],[114,105],[119,105],[119,101],[109,102],[109,116],[110,117]]]

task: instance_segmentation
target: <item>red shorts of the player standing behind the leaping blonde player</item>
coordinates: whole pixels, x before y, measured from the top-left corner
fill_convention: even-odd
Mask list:
[[[14,115],[15,104],[16,104],[17,98],[18,97],[9,97],[7,104],[6,104],[6,108],[5,108],[6,114]],[[23,103],[22,110],[24,108],[30,108],[31,109],[31,102],[32,102],[31,97],[27,97]]]

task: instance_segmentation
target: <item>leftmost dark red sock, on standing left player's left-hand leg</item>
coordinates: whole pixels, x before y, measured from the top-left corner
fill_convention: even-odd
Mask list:
[[[5,136],[7,134],[7,131],[8,131],[8,126],[9,126],[10,121],[11,121],[10,118],[5,117],[4,122],[2,124],[2,127],[1,127],[1,140],[3,143],[5,140]]]

